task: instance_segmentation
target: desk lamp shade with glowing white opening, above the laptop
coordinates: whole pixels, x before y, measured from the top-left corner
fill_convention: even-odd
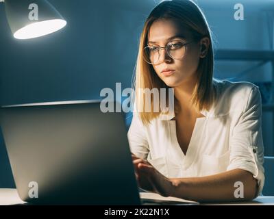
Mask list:
[[[61,14],[46,0],[5,0],[5,14],[17,39],[45,36],[66,25]]]

